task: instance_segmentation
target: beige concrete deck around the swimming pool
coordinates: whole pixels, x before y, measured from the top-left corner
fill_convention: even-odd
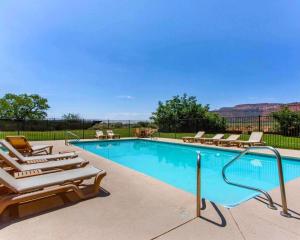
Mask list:
[[[77,150],[90,164],[105,169],[103,191],[99,197],[81,202],[55,196],[22,204],[17,209],[19,216],[11,219],[7,214],[16,209],[10,208],[1,219],[0,239],[300,239],[299,178],[286,185],[291,218],[282,217],[280,208],[270,210],[252,199],[232,209],[206,201],[202,218],[196,219],[192,194],[80,148],[65,146],[64,141],[47,143],[53,144],[56,152]],[[280,152],[300,157],[300,151]],[[270,194],[280,204],[279,189]]]

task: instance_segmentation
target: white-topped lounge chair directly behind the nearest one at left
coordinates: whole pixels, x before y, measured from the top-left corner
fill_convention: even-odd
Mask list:
[[[13,159],[11,156],[9,156],[8,153],[5,153],[0,149],[0,159],[4,161],[4,163],[11,167],[14,172],[17,172],[16,176],[28,176],[31,174],[43,174],[47,170],[61,170],[61,169],[69,169],[74,167],[84,167],[89,162],[87,160],[84,160],[82,158],[72,158],[68,160],[61,160],[61,161],[49,161],[49,162],[43,162],[43,163],[35,163],[35,164],[20,164],[15,159]],[[40,171],[35,171],[40,170]],[[18,172],[23,172],[22,174],[19,174]]]

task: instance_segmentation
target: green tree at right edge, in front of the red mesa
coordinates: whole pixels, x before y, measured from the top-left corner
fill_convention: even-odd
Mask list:
[[[271,116],[278,123],[277,130],[283,135],[299,135],[300,112],[293,112],[288,107],[283,107],[279,111],[271,113]]]

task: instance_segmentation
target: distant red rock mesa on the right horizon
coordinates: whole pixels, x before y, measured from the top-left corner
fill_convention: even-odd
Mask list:
[[[223,107],[214,112],[223,117],[247,117],[247,116],[266,116],[272,112],[280,110],[281,107],[287,106],[292,111],[300,111],[300,102],[294,103],[255,103],[239,104],[234,107]]]

